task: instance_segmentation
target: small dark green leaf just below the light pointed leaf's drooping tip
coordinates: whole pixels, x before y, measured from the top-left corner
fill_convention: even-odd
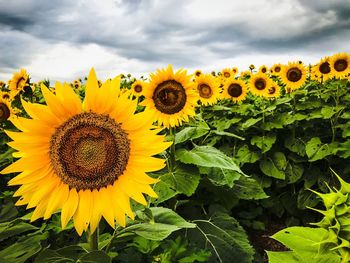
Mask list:
[[[268,197],[255,179],[246,176],[235,181],[232,190],[239,199],[258,200]]]

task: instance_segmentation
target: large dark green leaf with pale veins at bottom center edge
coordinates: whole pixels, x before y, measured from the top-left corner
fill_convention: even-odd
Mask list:
[[[188,237],[197,246],[211,250],[212,257],[207,262],[232,262],[232,259],[239,259],[240,263],[252,262],[254,250],[236,219],[217,213],[210,220],[194,222],[197,228],[189,230]]]

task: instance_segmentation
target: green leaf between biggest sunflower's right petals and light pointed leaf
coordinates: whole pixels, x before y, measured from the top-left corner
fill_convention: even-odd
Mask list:
[[[168,185],[176,193],[191,196],[197,189],[200,175],[197,169],[177,167],[174,172],[169,172],[160,177],[161,182]],[[170,193],[171,195],[171,193]]]

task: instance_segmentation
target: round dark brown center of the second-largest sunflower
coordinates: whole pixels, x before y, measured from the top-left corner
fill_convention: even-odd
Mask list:
[[[187,97],[179,82],[166,80],[156,87],[152,99],[157,110],[165,114],[174,114],[184,108]]]

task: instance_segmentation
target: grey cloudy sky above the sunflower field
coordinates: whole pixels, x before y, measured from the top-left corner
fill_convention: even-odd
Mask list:
[[[349,0],[0,0],[0,80],[147,75],[350,52]]]

